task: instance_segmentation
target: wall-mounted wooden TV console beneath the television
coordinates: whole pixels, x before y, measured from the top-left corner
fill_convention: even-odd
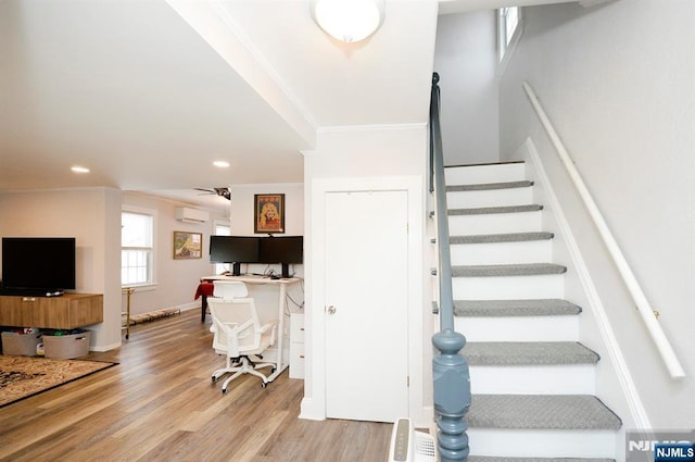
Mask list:
[[[0,325],[74,329],[103,322],[101,294],[61,297],[0,296]]]

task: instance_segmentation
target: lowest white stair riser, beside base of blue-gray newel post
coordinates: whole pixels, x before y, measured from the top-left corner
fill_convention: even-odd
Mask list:
[[[612,430],[469,428],[468,438],[470,455],[615,459],[617,453]]]

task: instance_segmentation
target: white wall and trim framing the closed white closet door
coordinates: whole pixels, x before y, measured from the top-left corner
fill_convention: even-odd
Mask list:
[[[409,178],[421,185],[417,201],[418,210],[410,212],[418,217],[409,223],[410,233],[421,240],[417,251],[409,255],[417,272],[417,280],[409,288],[409,301],[417,308],[410,316],[410,411],[412,417],[420,425],[428,425],[430,415],[425,415],[426,409],[431,408],[431,342],[432,314],[428,297],[424,294],[425,278],[428,271],[424,267],[424,249],[429,248],[425,242],[425,185],[427,166],[427,127],[425,125],[405,126],[375,126],[345,127],[320,130],[317,149],[305,153],[305,274],[306,274],[306,308],[305,337],[306,370],[304,382],[304,400],[302,401],[302,417],[325,417],[325,357],[324,357],[324,305],[319,287],[323,275],[316,273],[320,266],[323,249],[320,242],[314,238],[316,227],[320,226],[324,216],[321,210],[314,210],[313,203],[320,202],[318,197],[329,184],[340,184],[350,189],[350,185],[358,187],[369,183],[370,178]],[[320,182],[321,188],[314,189]],[[331,183],[333,182],[333,183]],[[343,189],[341,189],[343,190]],[[355,269],[359,271],[359,269]],[[388,262],[384,262],[388,271]],[[431,296],[431,295],[430,295]]]

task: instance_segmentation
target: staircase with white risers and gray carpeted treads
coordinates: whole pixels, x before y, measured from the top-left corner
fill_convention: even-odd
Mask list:
[[[567,267],[523,163],[445,172],[455,329],[468,344],[469,462],[609,461],[620,419],[594,396],[598,355],[564,299]]]

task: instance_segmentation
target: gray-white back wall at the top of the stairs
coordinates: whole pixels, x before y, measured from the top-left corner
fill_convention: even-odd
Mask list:
[[[493,10],[439,16],[434,71],[446,165],[500,160],[495,30]]]

